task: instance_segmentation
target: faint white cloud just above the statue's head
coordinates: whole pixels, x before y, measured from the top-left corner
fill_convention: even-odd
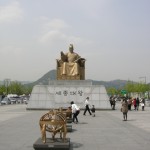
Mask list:
[[[41,18],[45,23],[42,25],[42,34],[39,37],[39,41],[42,44],[52,45],[53,43],[88,43],[92,42],[84,39],[82,37],[68,35],[67,30],[71,28],[69,24],[61,19],[53,19],[52,21],[48,21],[48,18]]]

